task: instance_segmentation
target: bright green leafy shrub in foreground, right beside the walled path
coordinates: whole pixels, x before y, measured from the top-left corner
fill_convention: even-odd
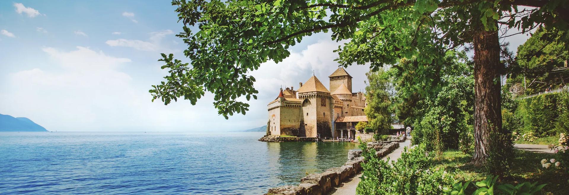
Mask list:
[[[453,175],[432,166],[432,153],[425,146],[405,148],[393,163],[381,160],[373,148],[361,144],[366,162],[363,176],[356,188],[357,194],[443,194],[441,186],[451,186]]]

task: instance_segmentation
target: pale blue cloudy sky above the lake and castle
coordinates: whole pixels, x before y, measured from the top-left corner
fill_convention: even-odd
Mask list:
[[[167,1],[0,1],[0,114],[27,117],[50,131],[239,131],[266,125],[267,103],[312,71],[329,86],[338,57],[330,34],[304,38],[281,63],[249,74],[258,99],[246,115],[225,119],[206,93],[189,101],[151,102],[163,81],[160,53],[185,60],[175,7]],[[515,30],[509,33],[515,33]],[[510,49],[529,38],[506,38]],[[346,69],[364,90],[369,65]]]

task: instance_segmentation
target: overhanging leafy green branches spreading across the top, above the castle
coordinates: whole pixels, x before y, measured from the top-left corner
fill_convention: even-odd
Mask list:
[[[567,29],[567,0],[549,1],[204,1],[174,0],[188,45],[182,63],[163,55],[169,70],[166,81],[152,86],[153,99],[165,104],[178,98],[195,103],[204,93],[214,94],[213,105],[228,117],[245,113],[258,93],[255,78],[248,76],[266,61],[281,62],[288,48],[304,36],[332,32],[333,40],[350,40],[340,47],[340,65],[370,63],[378,70],[384,63],[415,58],[420,63],[440,64],[448,48],[471,43],[474,32],[505,28],[530,30]],[[537,7],[518,10],[518,6]],[[518,18],[520,14],[526,16]],[[568,39],[569,36],[563,36]],[[420,66],[417,72],[427,67]]]

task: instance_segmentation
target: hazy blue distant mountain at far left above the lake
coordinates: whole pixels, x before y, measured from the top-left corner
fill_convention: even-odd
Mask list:
[[[34,123],[26,117],[14,118],[0,114],[0,131],[47,131],[46,128]]]

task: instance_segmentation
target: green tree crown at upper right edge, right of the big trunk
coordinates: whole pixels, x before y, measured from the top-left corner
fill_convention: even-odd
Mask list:
[[[550,85],[552,89],[564,86],[569,81],[569,72],[558,70],[569,59],[565,48],[563,32],[556,29],[538,28],[525,43],[519,45],[516,53],[516,65],[506,80],[510,91],[516,95],[544,92]],[[525,85],[524,85],[525,77]],[[527,88],[525,91],[523,88]]]

